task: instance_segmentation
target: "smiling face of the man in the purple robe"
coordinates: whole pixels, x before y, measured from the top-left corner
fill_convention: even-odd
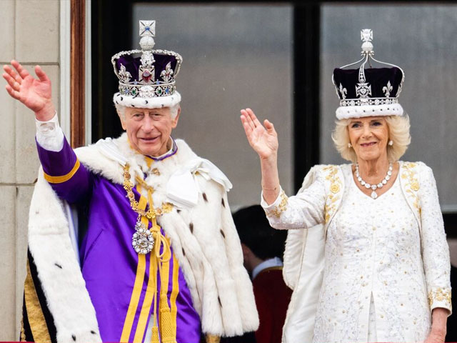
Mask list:
[[[171,131],[178,124],[179,111],[171,117],[169,107],[162,109],[136,109],[126,107],[122,128],[127,131],[131,146],[139,153],[161,156],[166,153]]]

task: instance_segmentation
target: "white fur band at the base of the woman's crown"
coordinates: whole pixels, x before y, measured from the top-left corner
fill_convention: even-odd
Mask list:
[[[367,106],[339,106],[336,109],[337,119],[363,118],[366,116],[402,116],[401,104],[382,104]]]

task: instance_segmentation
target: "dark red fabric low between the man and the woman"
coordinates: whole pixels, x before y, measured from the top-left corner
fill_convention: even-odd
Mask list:
[[[256,342],[281,343],[284,320],[292,295],[292,290],[283,281],[282,268],[262,270],[252,284],[260,319]]]

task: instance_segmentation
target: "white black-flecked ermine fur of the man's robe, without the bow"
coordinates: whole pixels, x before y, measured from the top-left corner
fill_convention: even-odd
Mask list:
[[[109,154],[106,153],[106,144],[109,144]],[[159,169],[160,174],[151,174],[145,179],[154,187],[154,204],[167,201],[166,184],[178,166],[199,158],[181,139],[176,139],[176,145],[178,152],[174,156],[152,162],[151,168]],[[114,156],[112,149],[116,151]],[[130,148],[126,134],[119,139],[99,141],[76,149],[75,152],[91,172],[116,184],[124,181],[121,162],[125,161],[131,167],[131,182],[134,184],[135,175],[144,177],[143,171],[148,169],[144,156]],[[191,292],[192,303],[201,317],[203,332],[233,336],[254,331],[258,327],[256,303],[251,281],[243,267],[241,244],[225,189],[203,175],[196,176],[196,181],[200,189],[196,206],[180,212],[175,208],[157,221],[171,239],[174,254]],[[39,211],[36,212],[36,209]],[[29,247],[39,269],[49,309],[56,321],[58,342],[71,342],[67,339],[70,332],[96,328],[97,325],[68,229],[61,201],[41,173],[30,210]],[[65,268],[55,267],[54,262]],[[42,269],[44,272],[41,272]],[[47,269],[49,272],[46,272]],[[64,274],[64,271],[69,274]],[[75,313],[81,312],[85,313],[78,317],[81,322],[75,322]],[[94,331],[98,332],[98,329]],[[76,337],[79,335],[84,337],[84,342],[99,342],[99,337],[83,334]],[[80,342],[79,339],[77,342]]]

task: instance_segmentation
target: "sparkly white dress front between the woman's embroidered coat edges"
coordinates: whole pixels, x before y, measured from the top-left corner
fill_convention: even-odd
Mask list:
[[[421,239],[398,179],[377,199],[347,187],[327,229],[313,341],[422,342],[431,318]]]

